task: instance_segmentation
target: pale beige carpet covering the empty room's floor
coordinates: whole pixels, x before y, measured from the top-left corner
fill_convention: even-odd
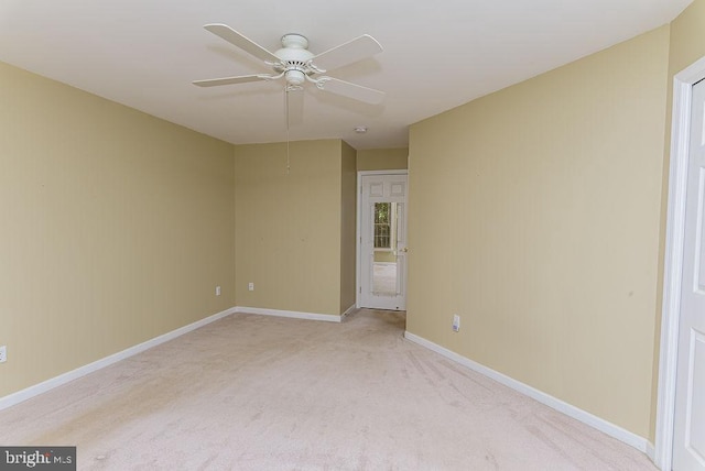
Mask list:
[[[403,339],[403,314],[234,315],[0,412],[95,470],[653,470]]]

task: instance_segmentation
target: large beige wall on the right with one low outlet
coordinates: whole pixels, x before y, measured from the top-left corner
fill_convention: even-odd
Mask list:
[[[408,330],[643,437],[668,54],[665,26],[410,134]]]

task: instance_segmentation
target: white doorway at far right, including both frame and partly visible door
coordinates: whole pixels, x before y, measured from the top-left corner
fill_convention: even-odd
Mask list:
[[[705,470],[704,78],[705,58],[674,80],[654,450],[663,470]]]

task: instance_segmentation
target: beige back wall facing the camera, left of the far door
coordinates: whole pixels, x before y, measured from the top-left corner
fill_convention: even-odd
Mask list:
[[[324,140],[292,142],[290,153],[288,174],[285,144],[236,146],[238,305],[339,315],[349,152]]]

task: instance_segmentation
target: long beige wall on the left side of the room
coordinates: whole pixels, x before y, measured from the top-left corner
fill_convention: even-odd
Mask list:
[[[230,144],[3,64],[0,102],[0,396],[234,306]]]

